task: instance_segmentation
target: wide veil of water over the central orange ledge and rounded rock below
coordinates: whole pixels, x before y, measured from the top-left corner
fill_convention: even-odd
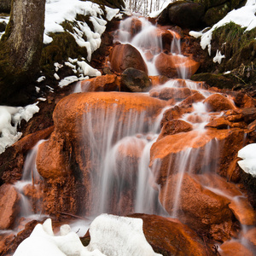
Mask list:
[[[92,116],[97,116],[96,123],[91,122]],[[148,164],[160,123],[156,125],[153,119],[145,122],[146,116],[145,111],[137,113],[132,108],[122,113],[116,104],[84,115],[84,131],[90,134],[90,161],[98,170],[94,187],[101,188],[93,192],[93,216],[102,212],[159,213],[158,192],[153,189],[156,185]],[[94,127],[102,128],[94,131]]]

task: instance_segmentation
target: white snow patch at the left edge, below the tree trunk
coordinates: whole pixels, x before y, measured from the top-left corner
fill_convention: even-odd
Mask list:
[[[17,132],[17,125],[25,119],[26,122],[39,111],[38,103],[25,108],[0,106],[0,154],[13,143],[17,142],[22,133]]]

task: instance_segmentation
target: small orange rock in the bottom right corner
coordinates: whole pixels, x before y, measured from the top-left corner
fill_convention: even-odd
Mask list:
[[[221,256],[253,256],[255,255],[252,251],[247,249],[239,241],[225,241],[219,249],[218,253]]]

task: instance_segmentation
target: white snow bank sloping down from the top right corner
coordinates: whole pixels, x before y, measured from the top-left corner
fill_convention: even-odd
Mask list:
[[[233,9],[230,11],[222,20],[219,20],[210,30],[207,32],[201,33],[201,48],[208,49],[209,55],[211,55],[211,41],[212,41],[212,32],[220,27],[224,26],[231,21],[240,25],[241,27],[245,27],[247,31],[252,30],[256,27],[256,1],[255,0],[247,0],[245,6],[241,7],[240,9]],[[189,32],[189,35],[197,37],[200,36],[200,33],[196,32]]]

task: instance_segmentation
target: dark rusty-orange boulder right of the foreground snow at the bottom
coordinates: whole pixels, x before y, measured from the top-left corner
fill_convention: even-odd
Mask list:
[[[162,255],[213,255],[194,230],[177,219],[134,213],[131,218],[143,219],[143,233],[155,253]]]

